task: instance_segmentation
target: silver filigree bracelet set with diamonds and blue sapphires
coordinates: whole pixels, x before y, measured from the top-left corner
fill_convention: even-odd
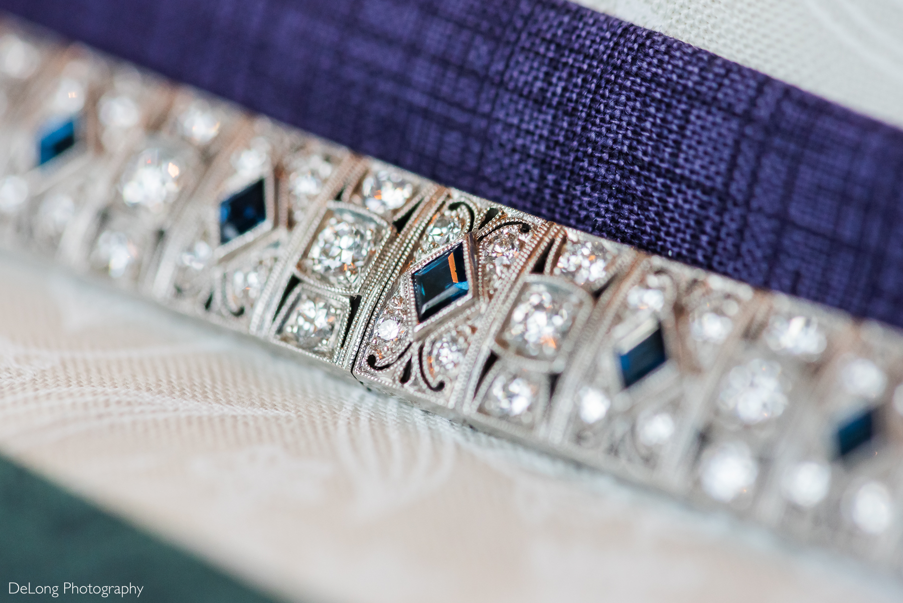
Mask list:
[[[452,420],[903,570],[895,329],[0,28],[3,245]]]

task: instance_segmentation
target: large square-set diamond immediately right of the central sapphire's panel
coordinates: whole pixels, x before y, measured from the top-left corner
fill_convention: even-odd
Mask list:
[[[531,283],[508,316],[502,338],[521,356],[554,358],[579,307],[580,301],[573,295],[553,291],[544,283]]]

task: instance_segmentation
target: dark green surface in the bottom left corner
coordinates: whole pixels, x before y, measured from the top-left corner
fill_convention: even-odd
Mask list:
[[[142,586],[141,601],[267,602],[256,590],[141,532],[61,487],[0,458],[0,593],[9,582],[59,585],[61,600],[132,599],[62,594],[63,583]]]

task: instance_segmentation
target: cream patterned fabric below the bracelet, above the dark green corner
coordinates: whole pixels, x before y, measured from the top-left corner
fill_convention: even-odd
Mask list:
[[[123,293],[0,279],[0,450],[287,598],[903,598]]]

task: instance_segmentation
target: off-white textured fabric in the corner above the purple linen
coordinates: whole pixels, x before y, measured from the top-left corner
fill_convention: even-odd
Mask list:
[[[577,0],[903,125],[903,0]]]

